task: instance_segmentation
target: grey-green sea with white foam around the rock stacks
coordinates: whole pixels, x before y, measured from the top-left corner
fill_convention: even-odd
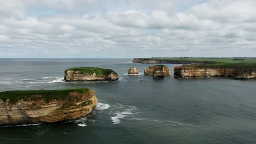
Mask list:
[[[92,115],[0,127],[0,143],[256,143],[256,80],[153,79],[131,59],[0,59],[0,91],[92,88]],[[172,70],[179,64],[166,64]],[[127,75],[138,67],[139,75]],[[65,82],[71,67],[117,71],[114,82]]]

